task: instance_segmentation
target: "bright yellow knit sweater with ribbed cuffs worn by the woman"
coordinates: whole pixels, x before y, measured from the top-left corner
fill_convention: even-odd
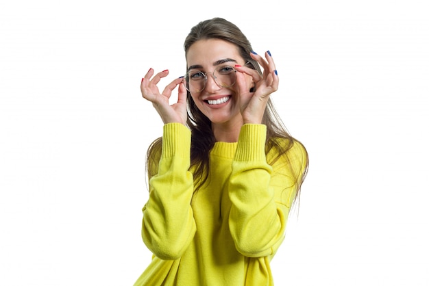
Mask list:
[[[142,237],[154,254],[134,286],[273,285],[269,262],[284,239],[302,145],[270,166],[265,125],[243,125],[238,142],[217,142],[206,183],[194,193],[191,132],[164,125],[158,174],[149,180]],[[269,161],[269,160],[268,160]]]

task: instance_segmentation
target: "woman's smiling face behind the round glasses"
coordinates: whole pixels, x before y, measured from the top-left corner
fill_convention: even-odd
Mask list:
[[[245,61],[238,52],[235,44],[220,39],[198,40],[189,47],[186,53],[188,71],[193,74],[201,71],[207,75],[206,86],[201,92],[192,92],[191,96],[198,109],[207,116],[212,123],[243,121],[238,99],[238,84],[225,88],[213,78],[213,72],[226,70],[225,66],[236,64],[244,66]],[[219,77],[218,77],[219,78]],[[238,79],[238,77],[236,77]],[[192,80],[192,79],[190,79]],[[204,79],[203,79],[204,80]],[[252,88],[252,77],[244,75],[248,90]],[[218,80],[219,81],[219,80]]]

